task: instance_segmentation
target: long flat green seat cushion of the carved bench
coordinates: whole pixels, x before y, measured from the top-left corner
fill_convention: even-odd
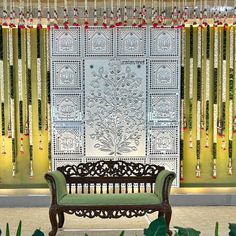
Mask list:
[[[154,193],[127,194],[68,194],[59,205],[101,206],[101,205],[158,205],[161,201]]]

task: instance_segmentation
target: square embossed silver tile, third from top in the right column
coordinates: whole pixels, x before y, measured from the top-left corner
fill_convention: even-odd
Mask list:
[[[178,94],[150,94],[150,121],[178,122],[179,119]]]

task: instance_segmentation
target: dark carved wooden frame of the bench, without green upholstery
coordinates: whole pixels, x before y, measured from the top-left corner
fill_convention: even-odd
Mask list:
[[[98,193],[97,185],[100,185],[99,193],[103,193],[104,185],[106,187],[106,193],[115,193],[117,185],[119,193],[122,190],[128,193],[128,184],[131,184],[132,193],[135,190],[135,184],[137,191],[141,192],[143,185],[143,192],[154,192],[154,184],[157,176],[164,171],[164,167],[141,164],[141,163],[127,163],[124,161],[98,161],[81,163],[78,166],[66,165],[58,167],[57,170],[63,173],[68,186],[68,194],[78,193],[81,187],[82,194],[85,192],[87,186],[87,193],[91,193],[91,184],[94,185],[94,192]],[[166,171],[167,172],[167,171]],[[164,172],[163,172],[164,173]],[[169,172],[163,180],[162,186],[160,186],[162,193],[162,203],[159,205],[102,205],[102,206],[76,206],[59,205],[57,202],[57,186],[55,179],[47,173],[45,179],[48,181],[52,200],[49,209],[49,218],[52,226],[52,230],[49,232],[49,236],[55,236],[58,228],[62,228],[64,224],[64,213],[75,214],[82,217],[100,217],[100,218],[120,218],[126,216],[128,218],[143,216],[146,213],[153,213],[159,211],[158,216],[164,216],[168,227],[168,234],[171,235],[169,229],[171,220],[171,206],[169,204],[169,194],[172,181],[175,178],[175,173]],[[79,186],[80,185],[80,186]],[[148,185],[150,188],[148,188]],[[74,188],[73,188],[74,186]],[[110,188],[112,187],[112,193]],[[148,191],[149,190],[149,191]],[[57,216],[59,222],[57,222]]]

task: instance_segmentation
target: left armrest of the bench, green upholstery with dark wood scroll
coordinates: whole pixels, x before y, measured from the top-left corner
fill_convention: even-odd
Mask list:
[[[51,194],[52,205],[57,204],[66,194],[66,179],[60,171],[52,171],[45,174]]]

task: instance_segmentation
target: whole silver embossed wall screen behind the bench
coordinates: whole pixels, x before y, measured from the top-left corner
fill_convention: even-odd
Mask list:
[[[54,169],[112,159],[164,165],[179,176],[180,33],[51,31]]]

